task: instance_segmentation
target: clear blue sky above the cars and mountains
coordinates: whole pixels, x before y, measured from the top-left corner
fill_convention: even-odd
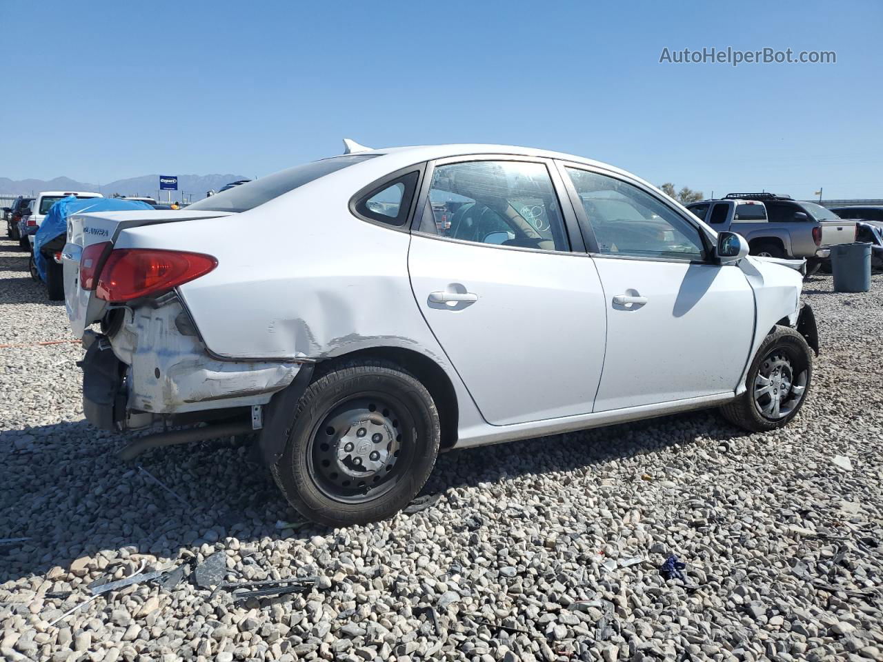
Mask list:
[[[0,25],[0,177],[262,176],[350,137],[545,147],[706,195],[883,197],[872,0],[3,0]],[[837,62],[660,64],[666,47]]]

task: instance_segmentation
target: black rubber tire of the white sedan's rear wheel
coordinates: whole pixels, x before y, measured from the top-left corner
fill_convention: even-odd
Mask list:
[[[372,400],[381,402],[382,410]],[[389,428],[389,437],[382,437],[389,445],[381,460],[381,464],[389,464],[364,480],[351,478],[351,471],[363,466],[362,460],[357,458],[353,464],[353,455],[341,459],[345,451],[341,444],[358,434],[365,441],[356,441],[357,452],[364,455],[375,448],[363,448],[368,441],[366,427],[381,425],[389,416],[396,418],[391,423],[394,427],[386,424],[378,428]],[[366,423],[371,417],[377,420]],[[395,515],[426,484],[441,441],[438,410],[429,391],[411,373],[383,360],[355,360],[320,373],[298,400],[293,418],[283,456],[270,470],[292,508],[328,526],[362,524]],[[371,439],[382,444],[380,437],[374,433]],[[394,453],[390,452],[393,444]],[[323,452],[326,455],[321,455]],[[371,459],[375,459],[374,453]],[[378,496],[370,496],[372,492]]]

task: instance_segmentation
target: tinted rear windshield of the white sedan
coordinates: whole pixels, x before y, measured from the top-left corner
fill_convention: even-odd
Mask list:
[[[334,156],[330,159],[305,163],[285,170],[280,170],[267,177],[255,179],[247,184],[233,186],[227,191],[217,193],[210,198],[194,202],[189,209],[201,209],[211,212],[245,212],[259,207],[283,193],[293,191],[298,186],[309,184],[319,177],[330,175],[336,170],[346,168],[354,163],[374,158],[378,154],[347,154]]]

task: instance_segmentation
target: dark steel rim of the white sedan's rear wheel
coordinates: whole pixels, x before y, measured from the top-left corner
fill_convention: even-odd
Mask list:
[[[336,402],[313,427],[306,448],[313,485],[343,503],[381,497],[404,476],[413,429],[404,404],[390,395],[361,393]]]

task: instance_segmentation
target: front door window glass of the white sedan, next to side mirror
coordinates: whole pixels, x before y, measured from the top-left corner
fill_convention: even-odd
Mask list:
[[[705,260],[699,230],[633,184],[567,168],[598,252],[612,256]]]

